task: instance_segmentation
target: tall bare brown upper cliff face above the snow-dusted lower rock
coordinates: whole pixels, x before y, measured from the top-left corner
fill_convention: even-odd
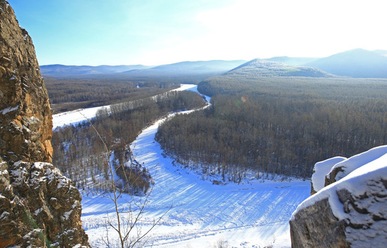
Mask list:
[[[52,114],[34,45],[9,4],[0,8],[0,155],[51,162]]]

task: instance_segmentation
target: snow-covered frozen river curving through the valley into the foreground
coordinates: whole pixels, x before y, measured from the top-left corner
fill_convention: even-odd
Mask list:
[[[155,182],[138,227],[145,230],[172,206],[149,234],[147,247],[205,248],[213,247],[218,240],[227,242],[229,247],[291,247],[289,218],[310,195],[310,181],[256,180],[243,185],[212,185],[162,155],[160,145],[154,141],[162,121],[147,127],[132,143],[136,161],[149,168]],[[114,203],[99,195],[82,194],[81,219],[90,245],[105,247],[101,238],[106,234],[108,214],[114,216]],[[119,200],[125,207],[128,196]],[[115,237],[109,229],[109,240]]]

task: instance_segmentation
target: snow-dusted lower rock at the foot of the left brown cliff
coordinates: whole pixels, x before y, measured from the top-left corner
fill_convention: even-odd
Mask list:
[[[63,176],[51,163],[43,162],[18,161],[10,165],[9,172],[12,189],[4,192],[8,198],[13,199],[13,203],[7,204],[19,204],[21,207],[15,207],[17,210],[12,211],[12,215],[6,216],[8,218],[6,221],[10,221],[15,216],[18,218],[32,216],[39,227],[49,227],[49,234],[54,237],[51,240],[61,244],[60,240],[66,240],[65,247],[72,247],[81,241],[87,244],[85,240],[87,236],[81,229],[79,221],[81,196],[70,179]],[[12,192],[17,192],[17,196],[12,195]],[[25,205],[26,202],[29,202],[29,205]],[[21,212],[18,212],[19,210]],[[59,225],[55,225],[57,218],[60,219]],[[74,228],[77,230],[76,233],[68,231]],[[43,234],[44,232],[43,230]],[[30,237],[30,234],[35,233],[32,231],[25,237]],[[81,238],[74,238],[76,237],[74,234]],[[60,246],[63,247],[63,245]]]

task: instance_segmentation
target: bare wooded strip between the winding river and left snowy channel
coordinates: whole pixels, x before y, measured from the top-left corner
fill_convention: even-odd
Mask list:
[[[136,163],[129,143],[143,128],[168,112],[193,109],[205,105],[202,97],[194,92],[166,92],[136,101],[103,108],[90,120],[112,149],[114,167],[129,161],[129,175],[134,193],[146,192],[151,183],[147,169]],[[109,171],[106,150],[90,123],[56,128],[52,136],[53,163],[79,188],[109,190]],[[120,174],[118,174],[120,176]],[[121,179],[125,176],[121,175]]]

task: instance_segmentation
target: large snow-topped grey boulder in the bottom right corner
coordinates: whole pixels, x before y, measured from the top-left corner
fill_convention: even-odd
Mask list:
[[[384,147],[345,160],[353,161],[346,165],[354,167],[357,161],[357,169],[297,207],[290,220],[292,247],[386,247],[387,152],[380,153]]]

